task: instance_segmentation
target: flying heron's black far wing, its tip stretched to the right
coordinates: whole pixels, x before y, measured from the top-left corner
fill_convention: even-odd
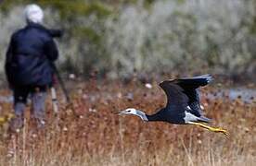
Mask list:
[[[173,80],[173,83],[179,85],[182,89],[184,89],[184,92],[189,98],[188,105],[191,108],[190,112],[197,116],[203,115],[202,110],[200,108],[198,88],[206,86],[209,82],[211,82],[211,80],[211,75],[186,77]]]

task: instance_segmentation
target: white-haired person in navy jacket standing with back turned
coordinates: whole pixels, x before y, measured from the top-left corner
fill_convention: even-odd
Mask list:
[[[53,82],[50,63],[58,59],[58,48],[53,36],[58,30],[47,30],[42,25],[44,13],[40,6],[25,8],[27,26],[16,31],[6,52],[6,77],[13,90],[15,118],[10,129],[23,126],[23,116],[29,94],[32,97],[32,115],[38,127],[45,125],[46,89]]]

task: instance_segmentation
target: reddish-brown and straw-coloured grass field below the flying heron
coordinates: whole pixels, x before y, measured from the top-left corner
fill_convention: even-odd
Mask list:
[[[12,136],[1,127],[0,165],[80,166],[80,165],[212,165],[252,166],[256,164],[256,102],[239,98],[231,101],[209,99],[221,87],[201,90],[205,113],[212,126],[221,126],[229,136],[211,133],[192,125],[144,123],[138,117],[115,112],[134,107],[154,113],[164,106],[165,95],[153,83],[144,84],[91,81],[71,87],[73,109],[63,103],[54,115],[47,101],[47,125],[37,130],[29,121]],[[1,90],[1,95],[9,91]],[[59,92],[60,93],[60,92]],[[59,98],[60,94],[58,95]],[[1,113],[10,113],[11,103],[1,103]],[[73,111],[72,111],[73,110]]]

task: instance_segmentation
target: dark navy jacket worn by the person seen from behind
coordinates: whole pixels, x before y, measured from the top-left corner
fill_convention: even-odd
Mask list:
[[[56,31],[29,24],[15,32],[6,52],[6,77],[15,86],[45,86],[52,83],[51,63],[58,59],[53,36]]]

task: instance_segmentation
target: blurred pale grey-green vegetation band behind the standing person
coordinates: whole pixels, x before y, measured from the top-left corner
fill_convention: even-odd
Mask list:
[[[24,6],[45,10],[62,73],[131,77],[211,73],[256,77],[254,0],[6,0],[0,5],[0,74],[6,47],[25,25]],[[255,79],[254,79],[255,81]]]

